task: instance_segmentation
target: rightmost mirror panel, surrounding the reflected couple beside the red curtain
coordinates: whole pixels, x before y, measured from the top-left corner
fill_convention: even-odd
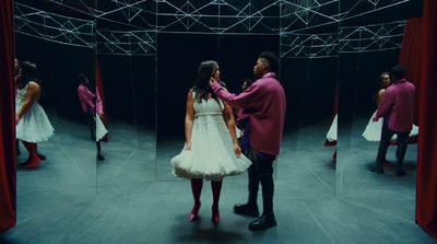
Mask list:
[[[356,4],[355,4],[356,3]],[[349,12],[340,24],[340,112],[338,196],[354,204],[414,221],[417,143],[409,143],[406,176],[394,177],[397,146],[389,147],[385,174],[375,165],[379,141],[362,135],[377,109],[377,78],[400,61],[405,20],[422,14],[423,2],[341,1]],[[352,11],[349,11],[352,10]],[[409,70],[406,70],[408,74]],[[414,81],[413,81],[414,82]],[[376,132],[380,135],[380,132]]]

